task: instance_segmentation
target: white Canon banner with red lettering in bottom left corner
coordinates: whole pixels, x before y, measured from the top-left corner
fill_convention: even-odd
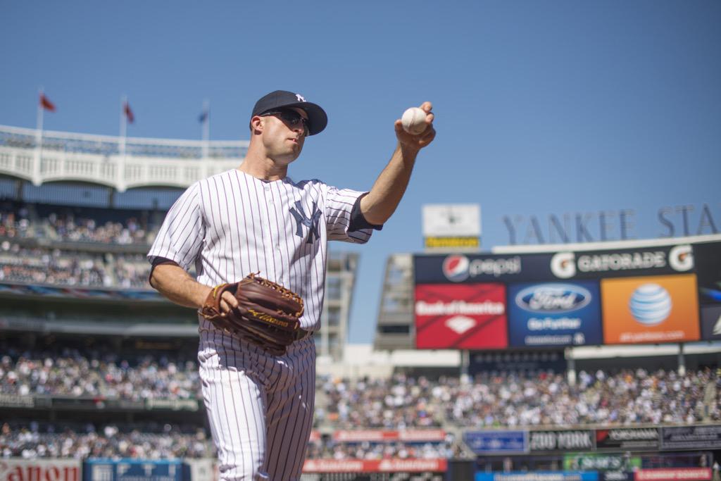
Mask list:
[[[79,459],[0,459],[0,481],[80,481]]]

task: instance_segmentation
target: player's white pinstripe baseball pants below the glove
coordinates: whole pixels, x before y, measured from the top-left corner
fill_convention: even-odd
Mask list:
[[[299,480],[314,414],[313,337],[272,356],[201,324],[198,361],[221,480]]]

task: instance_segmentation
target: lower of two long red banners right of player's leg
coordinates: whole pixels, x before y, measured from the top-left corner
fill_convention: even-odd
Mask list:
[[[445,472],[446,459],[306,459],[303,472]],[[375,478],[374,478],[375,479]]]

